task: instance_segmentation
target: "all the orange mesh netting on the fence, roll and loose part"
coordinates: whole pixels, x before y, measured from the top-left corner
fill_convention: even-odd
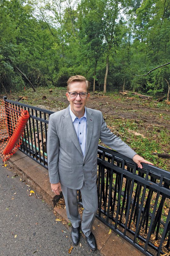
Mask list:
[[[27,110],[9,102],[0,102],[0,156],[3,161],[13,155],[22,144],[23,133],[29,119]]]

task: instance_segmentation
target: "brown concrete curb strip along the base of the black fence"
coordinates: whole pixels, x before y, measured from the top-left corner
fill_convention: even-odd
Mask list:
[[[7,164],[13,167],[13,171],[21,176],[23,180],[26,180],[35,190],[35,193],[41,195],[49,205],[54,206],[59,200],[59,197],[51,192],[48,171],[30,157],[18,151],[11,156]],[[57,214],[68,221],[65,209],[58,207],[54,207],[54,209]],[[96,238],[98,250],[105,256],[144,255],[114,231],[108,234],[109,228],[97,219],[94,221],[92,232]]]

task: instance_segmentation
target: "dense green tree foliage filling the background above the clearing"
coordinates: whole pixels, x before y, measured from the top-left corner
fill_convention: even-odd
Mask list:
[[[3,0],[0,2],[0,92],[65,83],[81,74],[103,89],[167,93],[170,0]],[[95,79],[94,79],[95,78]]]

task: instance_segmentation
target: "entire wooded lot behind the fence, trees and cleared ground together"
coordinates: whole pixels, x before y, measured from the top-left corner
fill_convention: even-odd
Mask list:
[[[87,106],[101,110],[138,154],[168,170],[166,97],[144,101],[119,90],[167,95],[170,65],[142,75],[170,61],[169,18],[170,0],[0,0],[1,96],[26,96],[26,104],[58,111],[68,106],[66,81],[81,74],[92,84]]]

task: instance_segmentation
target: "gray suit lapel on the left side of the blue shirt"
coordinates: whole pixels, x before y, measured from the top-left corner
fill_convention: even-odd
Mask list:
[[[76,146],[76,148],[78,149],[78,151],[81,153],[81,155],[83,156],[83,152],[81,150],[80,147],[80,143],[78,141],[78,137],[76,134],[76,131],[74,129],[74,125],[70,116],[70,112],[69,112],[69,107],[66,109],[66,114],[63,114],[64,118],[63,118],[63,124],[66,127],[66,130],[70,136],[70,139],[72,140],[72,142],[74,143],[74,145]]]

